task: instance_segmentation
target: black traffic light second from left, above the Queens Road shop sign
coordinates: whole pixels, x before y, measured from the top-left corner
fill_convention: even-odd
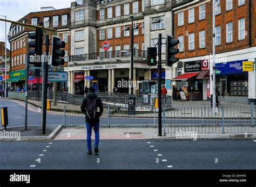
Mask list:
[[[65,51],[60,49],[65,48],[65,41],[60,41],[60,37],[52,36],[52,48],[51,48],[51,67],[58,67],[64,65]]]

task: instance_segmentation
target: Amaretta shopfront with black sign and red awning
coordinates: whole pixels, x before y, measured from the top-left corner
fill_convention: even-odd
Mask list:
[[[188,100],[207,100],[210,98],[208,60],[184,62],[184,74],[173,78],[173,81],[181,82],[181,88]]]

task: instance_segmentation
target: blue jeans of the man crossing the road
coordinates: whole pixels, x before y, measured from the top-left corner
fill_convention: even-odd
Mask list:
[[[95,147],[99,146],[99,123],[90,125],[86,123],[86,129],[87,129],[87,150],[90,151],[92,149],[92,127],[95,132]]]

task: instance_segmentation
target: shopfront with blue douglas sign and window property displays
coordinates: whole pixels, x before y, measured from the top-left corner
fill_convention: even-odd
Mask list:
[[[216,88],[221,102],[248,102],[248,71],[243,69],[247,60],[217,63]]]

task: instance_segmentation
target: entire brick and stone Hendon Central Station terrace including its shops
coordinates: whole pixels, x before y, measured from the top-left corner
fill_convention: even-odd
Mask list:
[[[215,9],[216,87],[223,102],[254,102],[256,99],[256,35],[254,10],[256,2],[221,0]],[[162,46],[161,83],[167,95],[173,86],[183,89],[190,100],[207,100],[212,94],[212,1],[167,0],[84,0],[61,10],[29,13],[25,23],[49,21],[59,37],[67,43],[65,66],[69,81],[58,83],[58,89],[70,93],[93,86],[104,92],[118,87],[129,93],[131,47],[134,49],[134,93],[156,93],[157,66],[147,66],[147,47],[154,47],[158,34],[179,39],[179,62],[165,66],[165,44]],[[131,16],[134,17],[133,25]],[[37,20],[37,23],[35,22]],[[64,21],[63,21],[64,20]],[[21,19],[20,21],[23,21]],[[64,25],[63,25],[64,23]],[[131,30],[134,28],[134,45]],[[16,27],[11,26],[10,32]],[[11,35],[14,45],[24,33]],[[22,43],[25,41],[22,40]],[[16,45],[14,45],[16,46]],[[26,45],[27,46],[27,45]],[[24,44],[23,44],[24,47]],[[12,48],[12,47],[11,47]],[[15,47],[16,48],[16,47]],[[24,69],[16,61],[23,54],[11,49],[11,71]],[[19,64],[19,66],[17,65]],[[252,69],[243,68],[251,64]],[[85,77],[93,76],[92,80]],[[16,80],[17,81],[17,80]],[[11,81],[10,81],[11,82]],[[12,84],[23,84],[11,82]],[[128,83],[128,85],[127,85]]]

